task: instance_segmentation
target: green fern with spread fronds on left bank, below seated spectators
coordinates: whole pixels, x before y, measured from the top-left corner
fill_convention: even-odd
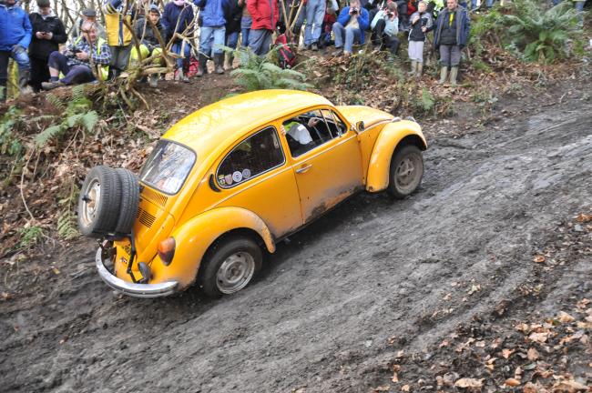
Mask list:
[[[75,86],[72,89],[72,97],[67,103],[54,95],[47,95],[47,99],[57,108],[64,110],[62,122],[48,126],[35,136],[35,145],[45,146],[46,143],[66,133],[69,129],[82,127],[88,133],[93,132],[98,122],[98,114],[92,109],[93,103],[86,96],[85,86]]]

